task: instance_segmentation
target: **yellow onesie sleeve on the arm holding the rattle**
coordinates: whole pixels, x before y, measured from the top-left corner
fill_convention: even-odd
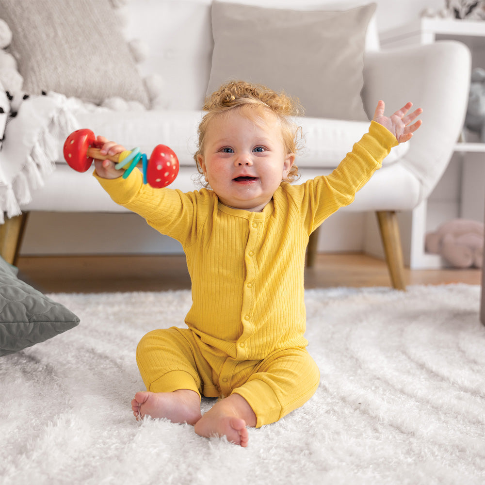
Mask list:
[[[197,201],[207,198],[200,207],[208,208],[210,194],[199,195],[197,191],[185,194],[169,188],[155,189],[143,183],[143,175],[138,169],[133,170],[126,179],[100,178],[96,171],[93,175],[114,202],[139,214],[162,234],[183,245],[190,245],[197,237],[201,219],[197,217]]]

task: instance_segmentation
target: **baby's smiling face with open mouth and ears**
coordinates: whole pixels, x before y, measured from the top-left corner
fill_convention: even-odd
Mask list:
[[[234,110],[210,122],[198,162],[224,205],[261,211],[288,178],[294,158],[285,152],[276,116],[255,122]]]

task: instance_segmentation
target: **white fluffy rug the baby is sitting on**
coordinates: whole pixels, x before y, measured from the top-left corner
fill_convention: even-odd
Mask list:
[[[136,344],[189,291],[50,296],[81,323],[0,359],[1,485],[485,483],[478,286],[307,291],[320,388],[245,449],[131,414]]]

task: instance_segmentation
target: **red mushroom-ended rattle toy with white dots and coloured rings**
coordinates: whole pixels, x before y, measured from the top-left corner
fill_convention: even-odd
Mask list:
[[[175,152],[165,145],[157,145],[147,160],[140,148],[126,150],[117,155],[102,155],[100,144],[90,129],[73,131],[64,142],[64,158],[67,164],[78,172],[85,172],[93,159],[111,160],[116,170],[125,168],[123,178],[127,178],[133,169],[142,161],[143,183],[159,189],[170,185],[178,174],[178,158]]]

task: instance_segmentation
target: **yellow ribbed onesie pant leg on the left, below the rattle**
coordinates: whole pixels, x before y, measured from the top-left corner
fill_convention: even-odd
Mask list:
[[[189,329],[172,327],[147,333],[136,349],[136,361],[151,392],[190,389],[199,395],[219,395],[211,382],[209,364]]]

